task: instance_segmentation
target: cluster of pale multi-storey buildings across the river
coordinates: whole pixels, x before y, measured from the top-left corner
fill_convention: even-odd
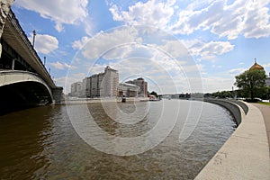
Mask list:
[[[119,82],[118,70],[104,67],[104,72],[85,76],[70,85],[68,96],[74,97],[148,97],[148,82],[142,77]]]

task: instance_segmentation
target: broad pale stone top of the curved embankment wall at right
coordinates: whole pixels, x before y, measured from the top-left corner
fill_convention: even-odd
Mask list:
[[[195,179],[270,179],[269,144],[263,114],[246,103],[247,115]],[[220,104],[221,105],[221,104]]]

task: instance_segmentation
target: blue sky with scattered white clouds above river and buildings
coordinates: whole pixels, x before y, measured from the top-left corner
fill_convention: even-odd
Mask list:
[[[57,85],[110,66],[158,94],[236,88],[257,63],[270,72],[270,0],[16,0],[14,14]]]

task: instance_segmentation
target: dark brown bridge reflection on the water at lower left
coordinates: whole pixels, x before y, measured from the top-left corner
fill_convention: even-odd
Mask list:
[[[36,177],[36,171],[49,166],[44,150],[51,143],[51,120],[57,112],[48,106],[1,116],[1,178],[31,179]]]

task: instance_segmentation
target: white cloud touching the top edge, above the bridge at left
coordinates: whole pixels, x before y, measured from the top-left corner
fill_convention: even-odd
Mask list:
[[[15,5],[40,14],[41,17],[56,23],[57,31],[62,31],[62,24],[76,24],[87,17],[88,0],[20,0]]]

